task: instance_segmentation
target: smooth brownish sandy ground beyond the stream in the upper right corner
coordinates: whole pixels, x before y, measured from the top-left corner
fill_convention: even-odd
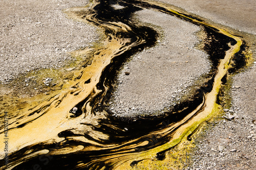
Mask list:
[[[256,3],[254,0],[160,0],[221,25],[256,35]]]

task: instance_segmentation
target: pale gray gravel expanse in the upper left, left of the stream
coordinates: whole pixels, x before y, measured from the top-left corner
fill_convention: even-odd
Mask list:
[[[68,19],[63,9],[89,1],[1,1],[0,82],[37,68],[59,68],[71,61],[67,52],[97,40],[96,28]]]

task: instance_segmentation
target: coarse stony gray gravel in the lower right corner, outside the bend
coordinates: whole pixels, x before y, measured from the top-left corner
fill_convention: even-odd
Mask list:
[[[197,139],[194,163],[187,169],[256,169],[255,77],[256,64],[234,77],[232,107]],[[229,115],[234,118],[227,119]]]

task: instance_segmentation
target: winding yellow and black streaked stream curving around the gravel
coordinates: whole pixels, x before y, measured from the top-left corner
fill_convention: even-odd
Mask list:
[[[90,64],[74,71],[74,78],[57,95],[23,109],[23,114],[13,120],[9,126],[9,164],[1,169],[109,169],[143,159],[163,159],[166,150],[184,137],[189,139],[197,127],[215,114],[222,80],[233,56],[239,53],[242,40],[169,6],[147,1],[116,2],[124,8],[115,10],[108,1],[101,0],[94,2],[96,5],[90,11],[67,10],[73,18],[102,28],[105,43],[95,50]],[[214,63],[212,78],[195,92],[194,101],[182,103],[162,117],[125,124],[105,111],[104,104],[120,63],[156,42],[156,31],[129,20],[132,13],[143,8],[204,27],[208,36],[219,37],[215,43],[223,45],[224,51],[209,45],[208,52],[220,53],[209,54]],[[1,133],[4,138],[3,130]],[[4,159],[0,162],[3,165]]]

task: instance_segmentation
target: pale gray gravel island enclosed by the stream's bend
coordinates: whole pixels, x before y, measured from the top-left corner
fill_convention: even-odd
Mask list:
[[[175,106],[191,85],[210,68],[207,55],[198,50],[200,27],[167,14],[142,10],[136,19],[163,31],[156,46],[134,55],[118,75],[110,110],[133,117]],[[125,75],[129,72],[130,75]]]

